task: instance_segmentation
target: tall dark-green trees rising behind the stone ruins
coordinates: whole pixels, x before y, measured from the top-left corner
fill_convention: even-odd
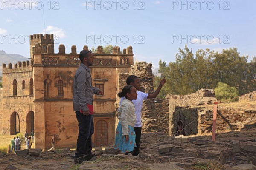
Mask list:
[[[223,49],[222,52],[199,49],[195,54],[187,45],[179,48],[175,62],[160,59],[159,73],[166,76],[158,98],[166,94],[186,95],[201,88],[214,89],[218,82],[236,88],[239,94],[256,90],[256,57],[247,63],[248,56],[240,56],[237,48]],[[155,77],[154,88],[159,85],[161,77]]]

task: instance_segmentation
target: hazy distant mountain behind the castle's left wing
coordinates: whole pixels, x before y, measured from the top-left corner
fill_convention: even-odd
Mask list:
[[[29,58],[26,58],[20,54],[7,54],[5,51],[0,50],[0,69],[2,69],[2,63],[6,64],[7,67],[9,63],[16,64],[19,61],[27,60],[29,60]]]

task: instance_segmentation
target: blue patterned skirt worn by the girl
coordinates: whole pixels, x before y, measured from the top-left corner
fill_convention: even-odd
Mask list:
[[[115,139],[114,148],[121,150],[121,152],[131,152],[134,150],[134,147],[136,147],[134,127],[131,127],[130,125],[128,125],[128,129],[129,129],[129,140],[128,142],[126,142],[125,137],[122,136],[121,122],[118,122],[118,125],[116,127],[116,139]]]

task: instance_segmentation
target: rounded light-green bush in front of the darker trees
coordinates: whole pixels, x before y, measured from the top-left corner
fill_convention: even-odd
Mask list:
[[[231,87],[230,85],[227,85],[223,82],[218,82],[217,87],[214,89],[214,91],[216,98],[221,101],[239,96],[239,91],[235,87]]]

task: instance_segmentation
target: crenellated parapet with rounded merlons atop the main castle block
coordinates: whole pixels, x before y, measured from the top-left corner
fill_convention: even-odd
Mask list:
[[[84,45],[83,49],[89,50],[87,45]],[[133,55],[131,46],[124,49],[123,53],[121,53],[119,46],[115,46],[112,53],[108,54],[105,53],[103,47],[99,45],[97,52],[93,53],[93,63],[95,66],[128,66],[133,64]],[[80,64],[76,45],[72,45],[71,52],[66,53],[66,47],[63,44],[59,45],[58,53],[54,53],[52,44],[48,44],[46,52],[43,52],[42,46],[36,43],[33,47],[33,61],[35,65],[45,66],[77,66]]]

